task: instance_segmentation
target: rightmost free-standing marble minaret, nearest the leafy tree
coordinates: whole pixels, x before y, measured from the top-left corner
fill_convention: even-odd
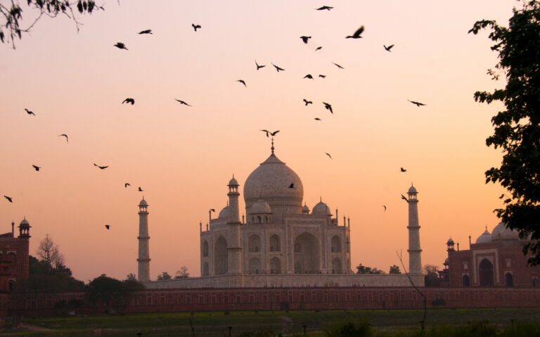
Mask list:
[[[420,259],[420,225],[418,224],[418,199],[416,194],[418,192],[411,185],[411,188],[407,192],[409,194],[409,274],[422,275],[422,260]],[[417,286],[419,284],[416,284]],[[423,285],[423,284],[422,284]]]

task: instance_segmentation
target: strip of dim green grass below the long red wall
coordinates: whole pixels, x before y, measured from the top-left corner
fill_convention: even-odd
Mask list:
[[[419,336],[422,310],[164,312],[88,317],[25,317],[0,336]],[[512,319],[514,326],[512,327]],[[540,308],[432,309],[425,336],[540,336]],[[483,325],[482,325],[483,324]],[[348,332],[347,332],[348,331]],[[495,331],[498,333],[494,334]],[[526,332],[524,332],[526,331]]]

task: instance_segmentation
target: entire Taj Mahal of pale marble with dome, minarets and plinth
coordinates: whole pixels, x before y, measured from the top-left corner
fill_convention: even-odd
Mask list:
[[[310,210],[302,180],[274,153],[245,180],[245,216],[240,220],[240,184],[233,176],[228,204],[203,228],[200,277],[150,281],[148,203],[139,203],[139,281],[147,288],[232,288],[275,286],[423,286],[418,199],[409,198],[409,276],[354,274],[350,219],[340,219],[323,202]],[[303,204],[303,205],[302,205]]]

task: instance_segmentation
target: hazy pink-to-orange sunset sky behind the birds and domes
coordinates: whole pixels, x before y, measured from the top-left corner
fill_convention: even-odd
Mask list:
[[[322,197],[350,217],[353,266],[388,272],[396,251],[406,255],[400,194],[411,182],[423,264],[442,265],[450,236],[466,249],[499,222],[503,189],[484,172],[501,162],[485,145],[501,106],[473,93],[504,82],[486,75],[497,61],[487,32],[467,32],[484,18],[507,25],[517,1],[98,4],[105,11],[80,16],[79,32],[68,18],[43,18],[16,49],[0,45],[0,194],[13,198],[0,201],[0,232],[26,216],[30,254],[49,234],[79,279],[136,274],[144,194],[150,277],[183,265],[200,275],[199,222],[226,205],[232,174],[245,212],[243,183],[270,154],[259,129],[281,130],[276,155],[302,179],[309,208]],[[314,9],[323,5],[334,8]],[[361,25],[364,38],[345,39]]]

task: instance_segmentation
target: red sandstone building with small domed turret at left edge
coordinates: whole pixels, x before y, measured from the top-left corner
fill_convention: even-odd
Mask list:
[[[0,234],[0,293],[13,291],[15,284],[28,277],[30,224],[20,222],[19,236],[15,237],[15,223],[11,232]]]

